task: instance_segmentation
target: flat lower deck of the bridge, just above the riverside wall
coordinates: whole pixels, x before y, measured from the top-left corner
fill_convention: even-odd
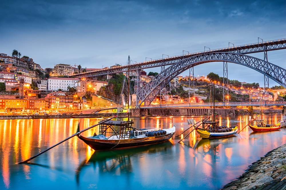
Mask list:
[[[281,102],[263,102],[262,106],[283,106],[285,101]],[[162,105],[142,105],[139,108],[180,108],[180,107],[209,107],[213,103],[188,103],[188,104],[162,104]],[[215,106],[260,106],[260,102],[215,102]]]

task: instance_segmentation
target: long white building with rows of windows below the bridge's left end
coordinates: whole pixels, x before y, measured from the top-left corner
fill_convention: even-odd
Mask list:
[[[59,78],[51,77],[48,79],[48,91],[57,91],[59,89],[67,91],[67,87],[78,87],[79,78]]]

